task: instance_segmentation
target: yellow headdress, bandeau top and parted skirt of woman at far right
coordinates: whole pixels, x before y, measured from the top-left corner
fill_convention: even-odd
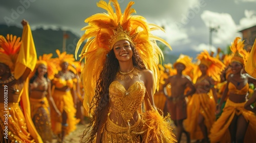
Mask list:
[[[241,41],[240,39],[240,37],[237,37],[230,46],[230,50],[233,52],[231,62],[235,61],[244,65],[245,59],[244,56],[241,55],[244,53],[241,52],[244,50],[244,41]],[[242,89],[237,89],[236,86],[233,85],[231,82],[229,82],[227,86],[230,93],[236,93],[241,95],[245,95],[249,89],[248,83]],[[256,115],[253,112],[244,108],[245,103],[246,102],[234,103],[227,99],[221,116],[214,123],[214,125],[212,125],[212,128],[210,130],[209,138],[211,142],[230,142],[230,133],[228,127],[231,124],[234,115],[240,114],[242,114],[245,120],[249,122],[246,134],[244,136],[244,142],[256,142],[256,139],[254,137],[256,134]]]

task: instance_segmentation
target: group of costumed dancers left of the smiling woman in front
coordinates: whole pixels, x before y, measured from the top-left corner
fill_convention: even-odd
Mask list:
[[[74,55],[58,50],[57,58],[37,59],[30,26],[26,20],[22,25],[22,38],[0,37],[0,142],[62,142],[84,122],[81,66]]]

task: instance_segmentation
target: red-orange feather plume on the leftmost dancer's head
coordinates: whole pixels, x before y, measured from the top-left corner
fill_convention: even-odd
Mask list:
[[[20,37],[7,34],[5,38],[0,35],[0,62],[9,66],[11,72],[14,71],[21,44]]]

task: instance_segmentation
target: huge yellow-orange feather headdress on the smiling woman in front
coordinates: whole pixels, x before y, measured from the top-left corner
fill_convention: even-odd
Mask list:
[[[115,12],[111,4],[115,8]],[[117,0],[110,0],[109,3],[99,1],[97,6],[108,13],[97,13],[84,20],[88,23],[88,26],[81,29],[85,33],[77,43],[75,56],[77,56],[81,43],[87,40],[81,55],[79,55],[80,60],[85,59],[81,79],[84,89],[87,89],[86,96],[94,95],[96,80],[102,70],[106,54],[112,50],[115,42],[119,40],[127,40],[135,45],[146,68],[152,70],[154,74],[154,85],[158,85],[160,76],[158,63],[161,61],[163,54],[156,40],[164,43],[169,49],[171,47],[165,40],[151,33],[154,30],[164,31],[161,27],[147,23],[146,19],[140,15],[132,15],[136,13],[131,8],[133,5],[134,2],[130,2],[124,12],[121,13]]]

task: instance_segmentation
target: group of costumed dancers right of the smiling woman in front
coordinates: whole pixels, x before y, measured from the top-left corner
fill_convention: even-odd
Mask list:
[[[243,42],[234,39],[230,54],[203,51],[195,61],[181,54],[159,65],[154,101],[170,113],[178,142],[182,133],[187,142],[256,142],[256,41],[247,50]]]

